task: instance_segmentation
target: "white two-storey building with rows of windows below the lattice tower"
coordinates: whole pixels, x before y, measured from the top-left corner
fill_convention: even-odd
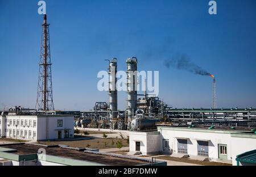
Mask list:
[[[0,116],[0,137],[20,140],[53,140],[73,137],[74,116],[16,115]]]

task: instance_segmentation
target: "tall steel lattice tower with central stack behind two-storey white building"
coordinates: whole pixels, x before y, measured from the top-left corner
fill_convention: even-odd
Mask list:
[[[42,28],[36,109],[40,111],[49,111],[54,110],[54,106],[52,99],[52,63],[47,15],[44,15]]]

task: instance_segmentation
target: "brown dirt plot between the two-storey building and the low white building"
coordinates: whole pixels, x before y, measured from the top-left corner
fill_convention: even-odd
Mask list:
[[[126,139],[120,138],[92,138],[90,140],[72,140],[72,141],[40,141],[44,145],[68,145],[71,147],[89,147],[95,149],[116,148],[117,141],[122,141],[122,147],[128,147]]]

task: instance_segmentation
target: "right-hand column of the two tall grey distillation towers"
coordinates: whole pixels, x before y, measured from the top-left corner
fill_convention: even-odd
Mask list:
[[[137,110],[137,58],[132,57],[126,60],[127,64],[127,116],[128,121],[134,118]]]

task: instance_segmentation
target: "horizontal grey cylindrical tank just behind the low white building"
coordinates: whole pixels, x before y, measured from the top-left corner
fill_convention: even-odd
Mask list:
[[[133,121],[131,121],[131,130],[141,131],[141,130],[156,129],[156,125],[155,125],[156,121],[158,121],[158,119],[136,118]]]

